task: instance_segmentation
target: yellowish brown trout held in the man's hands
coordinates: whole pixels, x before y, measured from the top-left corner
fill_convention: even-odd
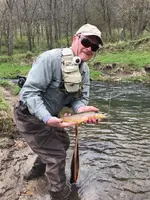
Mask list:
[[[91,118],[91,117],[96,120],[107,119],[106,114],[102,114],[100,112],[93,112],[93,111],[77,113],[74,115],[68,115],[68,116],[62,117],[61,119],[63,120],[63,122],[73,122],[73,123],[75,122],[77,124],[81,124],[84,121],[88,120],[88,118]]]

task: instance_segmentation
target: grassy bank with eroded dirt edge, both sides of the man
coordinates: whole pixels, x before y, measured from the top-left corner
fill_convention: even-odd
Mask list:
[[[92,80],[150,83],[150,38],[106,44],[88,62]],[[40,53],[39,53],[40,54]],[[27,76],[38,55],[0,56],[0,78]]]

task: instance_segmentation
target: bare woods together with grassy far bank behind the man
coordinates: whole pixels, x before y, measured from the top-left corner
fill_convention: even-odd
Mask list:
[[[150,0],[0,0],[0,78],[26,76],[37,55],[69,47],[85,23],[104,41],[89,63],[92,79],[120,80],[118,73],[136,70],[130,79],[149,80]]]

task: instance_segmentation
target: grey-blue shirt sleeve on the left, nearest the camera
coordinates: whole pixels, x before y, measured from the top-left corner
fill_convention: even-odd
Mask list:
[[[52,73],[52,58],[47,51],[41,54],[33,63],[20,93],[20,100],[28,107],[30,113],[40,120],[45,119],[45,116],[51,117],[44,105],[41,94],[46,91],[47,86],[50,84]]]

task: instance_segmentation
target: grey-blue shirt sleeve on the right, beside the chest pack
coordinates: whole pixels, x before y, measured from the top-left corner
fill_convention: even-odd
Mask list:
[[[76,113],[77,110],[82,107],[86,106],[89,103],[89,92],[90,92],[90,74],[89,74],[89,67],[86,63],[83,63],[81,75],[82,75],[82,89],[81,89],[81,96],[76,98],[71,106],[73,111]]]

